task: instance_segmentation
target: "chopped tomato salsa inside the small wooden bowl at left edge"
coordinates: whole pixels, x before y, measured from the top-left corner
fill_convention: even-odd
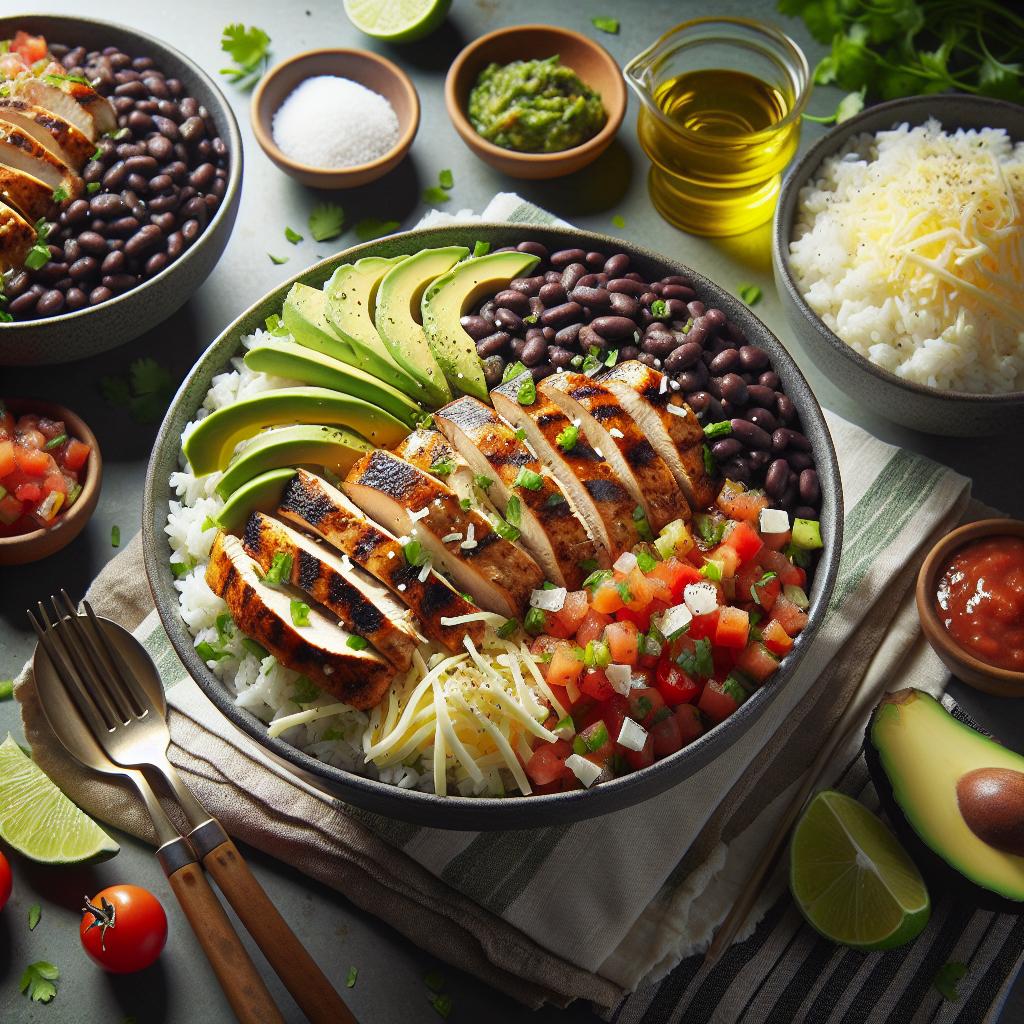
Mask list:
[[[91,446],[63,421],[0,403],[0,537],[55,526],[82,493]]]

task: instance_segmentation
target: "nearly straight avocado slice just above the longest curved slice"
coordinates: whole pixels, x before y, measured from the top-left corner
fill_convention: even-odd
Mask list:
[[[254,345],[246,352],[245,362],[250,370],[355,395],[385,410],[410,427],[423,416],[423,409],[417,402],[379,377],[291,341]]]

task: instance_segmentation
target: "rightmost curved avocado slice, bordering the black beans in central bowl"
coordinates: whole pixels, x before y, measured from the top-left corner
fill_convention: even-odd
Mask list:
[[[484,295],[505,288],[538,263],[529,253],[492,253],[457,263],[423,293],[423,330],[453,391],[487,401],[487,385],[476,344],[459,321]]]

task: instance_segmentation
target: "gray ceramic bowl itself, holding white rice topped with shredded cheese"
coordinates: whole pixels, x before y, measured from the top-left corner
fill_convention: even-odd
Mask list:
[[[906,114],[904,120],[914,127],[922,124],[929,117],[937,117],[942,121],[943,128],[949,125],[941,115],[935,113],[935,95],[909,96],[901,99],[890,99],[884,103],[876,103],[873,106],[865,108],[859,114],[844,121],[840,125],[831,128],[817,142],[811,146],[786,172],[779,189],[778,204],[775,207],[775,217],[772,223],[772,254],[776,271],[776,279],[781,279],[781,283],[787,298],[800,311],[801,316],[807,322],[814,333],[825,341],[828,346],[848,358],[858,370],[866,371],[873,377],[891,384],[895,387],[903,388],[914,394],[933,400],[949,400],[971,402],[978,407],[1001,407],[1024,403],[1024,390],[1006,391],[1002,393],[986,394],[978,391],[956,391],[944,388],[929,387],[926,384],[919,384],[916,381],[904,380],[896,374],[871,362],[859,352],[854,351],[835,331],[829,328],[824,321],[807,304],[797,283],[790,271],[788,248],[793,233],[793,224],[797,214],[797,203],[799,201],[800,189],[803,188],[814,172],[821,166],[825,158],[833,156],[843,145],[849,141],[851,136],[858,134],[861,130],[879,131],[881,129],[861,129],[860,126],[868,121],[873,121],[882,113],[893,116],[893,124],[900,122],[902,115]],[[1022,109],[1016,103],[1011,103],[1005,99],[995,99],[989,96],[971,96],[956,94],[957,102],[966,102],[977,106],[979,110],[991,109],[998,111],[1013,111],[1018,117]],[[956,122],[957,118],[951,119]],[[955,123],[952,127],[958,127]],[[998,127],[994,125],[993,127]],[[1024,136],[1017,141],[1024,141]],[[783,224],[783,214],[785,223]],[[784,238],[783,238],[784,233]]]

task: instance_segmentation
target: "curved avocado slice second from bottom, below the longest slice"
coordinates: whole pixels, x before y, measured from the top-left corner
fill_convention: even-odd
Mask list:
[[[325,466],[344,476],[356,460],[374,446],[344,427],[302,423],[272,427],[257,434],[228,463],[217,484],[217,494],[227,498],[247,480],[279,466]]]

